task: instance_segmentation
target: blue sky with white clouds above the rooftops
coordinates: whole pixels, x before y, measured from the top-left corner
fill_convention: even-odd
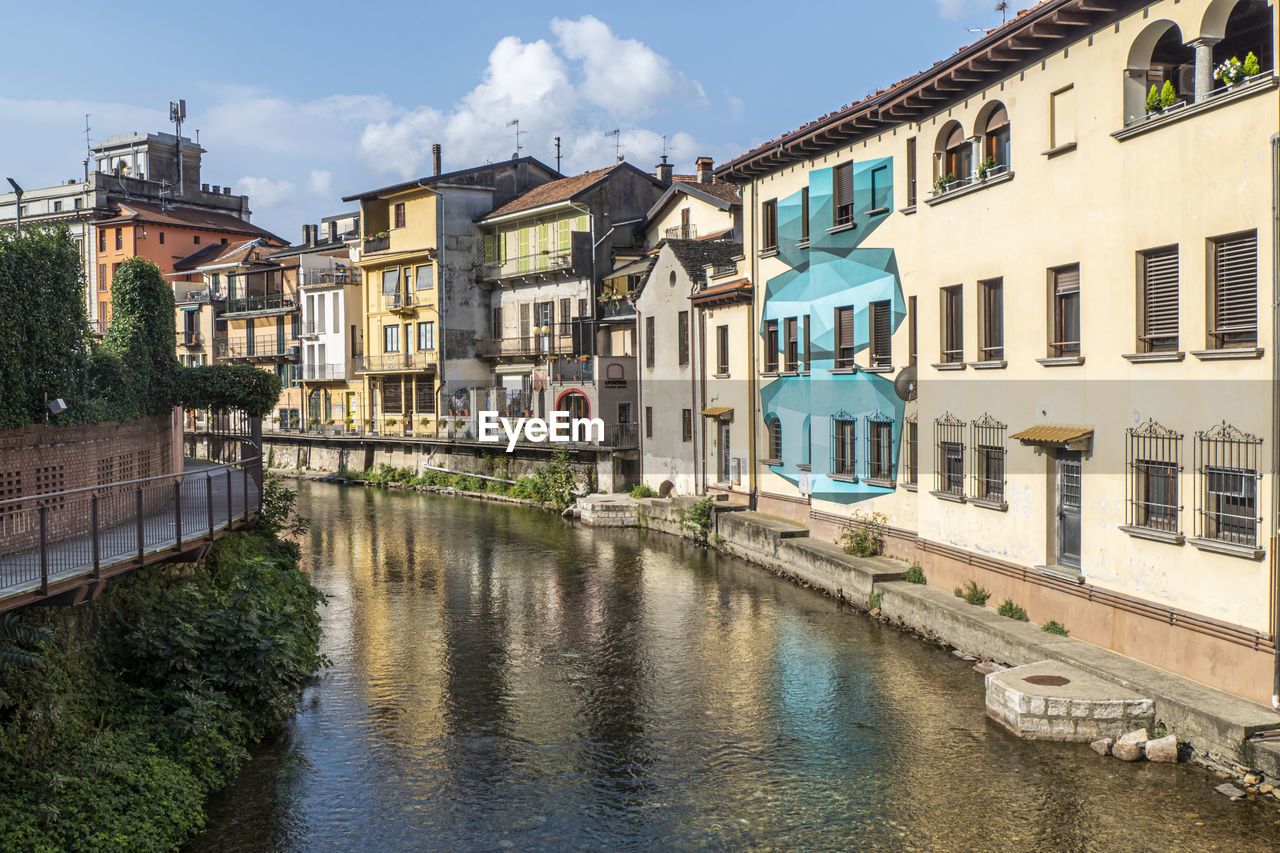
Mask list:
[[[1011,3],[1015,9],[1032,5]],[[993,0],[896,3],[41,3],[5,10],[0,173],[78,177],[91,138],[172,131],[187,100],[204,181],[248,192],[297,241],[340,196],[522,154],[564,172],[662,134],[680,172],[721,163],[954,53],[1001,22]],[[17,46],[17,47],[15,47]]]

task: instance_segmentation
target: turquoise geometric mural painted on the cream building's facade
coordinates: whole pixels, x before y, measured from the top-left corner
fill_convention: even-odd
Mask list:
[[[891,215],[892,164],[892,158],[881,158],[852,165],[852,228],[832,228],[835,170],[810,172],[808,248],[796,247],[804,234],[801,193],[778,200],[778,257],[788,269],[765,283],[759,333],[767,339],[765,324],[777,321],[780,348],[785,348],[785,336],[781,334],[783,320],[808,316],[810,369],[808,375],[783,375],[763,386],[760,411],[767,424],[777,418],[782,428],[781,465],[773,465],[771,470],[799,484],[800,466],[809,465],[810,494],[817,500],[852,503],[892,491],[865,482],[869,470],[868,418],[892,421],[892,474],[884,479],[896,480],[904,403],[893,393],[893,377],[864,373],[861,369],[832,373],[836,364],[836,309],[852,306],[855,361],[863,366],[867,359],[858,356],[865,353],[870,345],[868,306],[891,301],[892,330],[897,330],[906,318],[906,300],[893,250],[863,247]],[[800,346],[803,348],[803,339]],[[778,364],[783,364],[782,352],[777,359]],[[895,361],[895,368],[906,364],[901,356]],[[832,478],[835,416],[855,423],[854,478]]]

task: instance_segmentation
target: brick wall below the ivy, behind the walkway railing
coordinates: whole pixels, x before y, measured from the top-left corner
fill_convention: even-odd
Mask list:
[[[180,471],[182,423],[177,414],[129,423],[37,424],[0,430],[0,501]],[[147,489],[145,502],[163,502],[160,491]],[[54,500],[46,506],[50,540],[83,535],[87,530],[87,494]],[[132,517],[136,507],[136,500],[131,502],[123,493],[104,494],[99,526]],[[36,502],[0,505],[0,553],[33,548],[38,539]]]

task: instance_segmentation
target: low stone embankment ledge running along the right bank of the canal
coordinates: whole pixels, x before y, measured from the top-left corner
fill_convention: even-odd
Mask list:
[[[691,503],[691,498],[593,496],[579,503],[579,517],[600,526],[687,535],[680,514]],[[809,528],[795,521],[721,502],[710,539],[719,551],[872,610],[888,622],[974,658],[1009,666],[1060,661],[1151,697],[1155,720],[1188,743],[1199,761],[1238,777],[1256,771],[1280,788],[1280,738],[1256,736],[1280,730],[1280,713],[1265,706],[1073,637],[1044,633],[1037,625],[1000,616],[993,607],[969,605],[948,590],[908,583],[906,562],[850,556],[836,544],[814,539]]]

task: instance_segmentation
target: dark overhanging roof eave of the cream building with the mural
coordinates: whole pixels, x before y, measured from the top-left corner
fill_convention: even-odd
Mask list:
[[[809,159],[817,152],[847,145],[854,138],[910,122],[915,118],[911,115],[913,110],[924,110],[922,115],[931,115],[942,109],[945,104],[966,97],[965,90],[989,86],[995,79],[1032,61],[1039,61],[1043,53],[1056,49],[1056,46],[1050,45],[1034,46],[1033,50],[1028,50],[1029,45],[1036,45],[1037,38],[1074,38],[1083,35],[1080,29],[1073,28],[1079,26],[1082,19],[1092,22],[1096,15],[1106,17],[1112,14],[1119,5],[1117,0],[1105,0],[1106,8],[1089,5],[1088,0],[1042,0],[1029,9],[1018,12],[1000,27],[987,29],[977,41],[957,49],[946,59],[934,61],[929,68],[758,145],[724,163],[716,172],[718,175],[737,174],[737,177],[748,179],[746,167],[751,160],[774,158],[777,163],[769,165],[781,168],[785,163]],[[1064,20],[1069,20],[1071,26],[1057,20],[1062,15],[1066,15]],[[1048,29],[1037,29],[1038,26],[1044,24],[1048,26]],[[1096,23],[1089,23],[1083,27],[1083,32],[1091,32],[1096,26]],[[1006,50],[1005,54],[996,53],[1006,42],[1014,41],[1018,41],[1019,50]],[[1018,58],[1012,58],[1011,54],[1018,54]],[[975,70],[972,65],[974,61],[992,65],[996,70],[989,68]],[[1001,63],[1007,63],[1007,67],[1001,65]],[[978,74],[982,79],[966,82],[963,87],[954,85],[947,87],[947,91],[943,92],[948,96],[946,100],[938,100],[934,95],[928,100],[920,99],[923,102],[919,104],[906,104],[906,99],[913,97],[916,91],[942,81],[965,64],[970,64],[966,73]],[[987,78],[988,74],[995,74],[995,77]],[[966,79],[973,79],[973,77]],[[897,109],[901,109],[905,115],[895,113]],[[860,120],[867,122],[867,124],[859,126]],[[788,151],[788,146],[796,146],[796,150]]]

